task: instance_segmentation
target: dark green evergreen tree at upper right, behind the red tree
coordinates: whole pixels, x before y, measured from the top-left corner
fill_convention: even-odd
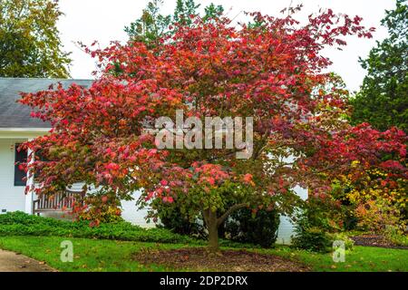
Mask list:
[[[352,100],[352,121],[368,121],[385,131],[397,126],[408,131],[408,6],[397,0],[396,8],[387,11],[382,24],[389,37],[377,42],[369,57],[360,60],[368,71],[363,87]]]

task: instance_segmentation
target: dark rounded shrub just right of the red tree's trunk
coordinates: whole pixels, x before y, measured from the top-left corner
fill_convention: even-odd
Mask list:
[[[277,240],[279,214],[277,210],[241,208],[224,225],[224,235],[232,241],[272,247]]]

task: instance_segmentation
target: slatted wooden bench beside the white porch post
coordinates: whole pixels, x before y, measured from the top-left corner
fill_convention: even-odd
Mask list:
[[[83,191],[73,191],[66,189],[63,193],[53,196],[41,196],[33,200],[33,214],[47,211],[63,211],[73,208],[73,202],[83,204]]]

